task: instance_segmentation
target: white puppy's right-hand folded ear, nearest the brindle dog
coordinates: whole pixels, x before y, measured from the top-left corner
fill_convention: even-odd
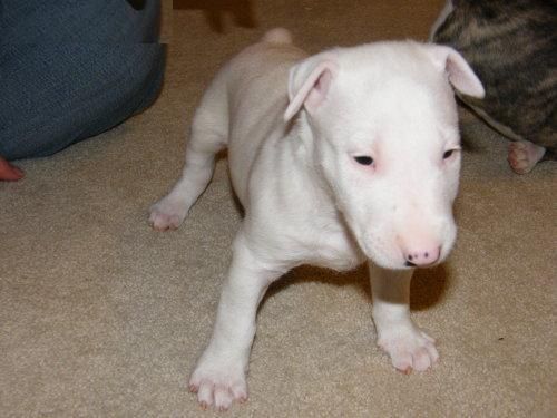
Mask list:
[[[481,81],[459,52],[441,45],[429,48],[433,62],[448,75],[452,87],[467,96],[483,98],[486,90]]]

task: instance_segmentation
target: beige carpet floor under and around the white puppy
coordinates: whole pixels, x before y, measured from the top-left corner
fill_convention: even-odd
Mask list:
[[[240,222],[226,159],[182,229],[156,233],[146,215],[179,174],[204,86],[268,28],[290,28],[310,51],[424,39],[441,3],[166,3],[167,81],[155,106],[56,156],[19,162],[26,179],[0,183],[0,416],[213,416],[186,387]],[[260,310],[250,400],[228,416],[557,415],[556,165],[515,175],[502,138],[469,116],[463,134],[458,244],[413,282],[413,315],[438,339],[439,364],[394,371],[374,346],[363,270],[301,268]]]

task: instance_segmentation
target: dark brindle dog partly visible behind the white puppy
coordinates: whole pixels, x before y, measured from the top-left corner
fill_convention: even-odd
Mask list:
[[[460,51],[483,84],[483,100],[460,98],[514,140],[512,169],[557,159],[557,1],[448,0],[431,33]]]

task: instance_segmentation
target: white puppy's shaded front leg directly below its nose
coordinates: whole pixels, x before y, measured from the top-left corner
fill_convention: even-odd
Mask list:
[[[439,358],[434,340],[410,319],[412,270],[385,270],[369,263],[378,344],[405,373],[427,370]]]

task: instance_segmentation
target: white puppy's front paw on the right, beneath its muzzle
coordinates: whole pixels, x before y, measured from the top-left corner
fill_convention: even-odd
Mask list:
[[[395,369],[409,375],[424,371],[439,359],[436,340],[420,329],[401,327],[390,329],[378,340],[378,346],[391,357]]]

